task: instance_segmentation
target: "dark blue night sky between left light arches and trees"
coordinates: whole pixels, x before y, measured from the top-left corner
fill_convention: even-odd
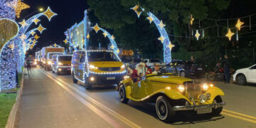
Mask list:
[[[18,21],[22,21],[26,16],[30,18],[38,14],[39,12],[37,10],[41,7],[46,11],[47,7],[50,6],[50,9],[58,14],[58,16],[53,17],[50,22],[46,16],[41,16],[41,22],[39,23],[47,29],[43,31],[42,34],[37,32],[40,38],[35,48],[33,48],[33,52],[38,48],[41,49],[53,43],[57,43],[58,45],[63,43],[62,41],[65,40],[64,31],[75,23],[82,21],[84,11],[88,9],[86,0],[23,0],[23,2],[31,6],[31,8],[21,11],[21,18],[18,18]]]

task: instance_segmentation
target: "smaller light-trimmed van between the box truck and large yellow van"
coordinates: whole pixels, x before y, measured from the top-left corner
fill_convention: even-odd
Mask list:
[[[71,59],[72,55],[53,55],[52,62],[52,71],[57,75],[61,73],[71,73]]]

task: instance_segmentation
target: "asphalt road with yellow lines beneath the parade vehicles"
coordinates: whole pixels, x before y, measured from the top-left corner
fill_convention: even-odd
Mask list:
[[[24,77],[16,127],[256,127],[256,85],[213,82],[227,103],[218,117],[179,112],[176,122],[157,119],[154,104],[119,102],[114,85],[85,90],[70,75],[33,68]]]

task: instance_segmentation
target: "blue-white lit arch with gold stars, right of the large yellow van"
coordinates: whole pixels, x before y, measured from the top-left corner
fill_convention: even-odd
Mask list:
[[[134,6],[134,8],[131,8],[132,10],[134,10],[137,13],[137,16],[139,18],[141,12],[138,11],[139,9],[139,5]],[[141,7],[142,11],[144,11],[144,9]],[[138,13],[140,12],[140,13]],[[147,15],[149,17],[147,17],[147,19],[149,19],[149,23],[154,22],[154,24],[156,25],[159,33],[160,33],[160,37],[159,40],[161,41],[161,43],[163,43],[164,46],[164,63],[171,63],[171,48],[174,47],[174,45],[171,44],[171,41],[169,40],[169,36],[166,33],[166,29],[164,28],[165,24],[163,23],[163,21],[160,21],[159,18],[157,18],[156,16],[154,16],[154,14],[152,14],[151,12],[148,12]]]

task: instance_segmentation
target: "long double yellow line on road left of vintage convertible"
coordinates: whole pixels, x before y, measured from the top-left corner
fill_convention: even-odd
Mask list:
[[[41,70],[41,68],[39,68],[39,70]],[[42,73],[46,74],[48,76],[48,78],[51,78],[53,81],[57,82],[58,85],[60,85],[61,87],[63,87],[65,90],[73,90],[75,92],[77,92],[79,95],[81,95],[82,97],[85,97],[85,99],[89,100],[90,102],[94,103],[95,105],[97,105],[98,107],[102,108],[102,110],[105,110],[106,112],[108,112],[109,114],[112,114],[112,116],[116,117],[117,119],[121,120],[122,122],[124,122],[125,124],[127,124],[129,127],[134,127],[134,128],[140,128],[139,125],[135,124],[134,122],[130,121],[129,119],[123,117],[121,114],[118,114],[117,112],[114,112],[114,110],[111,110],[109,107],[106,107],[105,105],[102,105],[100,102],[97,102],[96,100],[94,100],[92,97],[85,95],[83,92],[81,92],[80,90],[76,89],[75,87],[71,86],[68,84],[68,82],[64,82],[63,80],[60,80],[59,78],[55,77],[54,75],[45,72],[44,70],[41,70]],[[68,87],[67,87],[68,86]],[[67,88],[66,88],[67,87]],[[69,89],[70,88],[70,89]],[[70,91],[71,91],[70,90]],[[75,94],[76,95],[76,94]],[[78,96],[79,97],[79,96]],[[81,97],[80,97],[81,98]],[[82,98],[81,98],[82,99]],[[84,100],[85,101],[85,100]],[[85,101],[86,102],[86,101]],[[87,102],[87,104],[90,104],[89,102]],[[90,104],[91,105],[91,104]],[[92,105],[93,106],[93,105]],[[95,107],[95,109],[97,109]],[[99,110],[100,111],[100,110]]]

